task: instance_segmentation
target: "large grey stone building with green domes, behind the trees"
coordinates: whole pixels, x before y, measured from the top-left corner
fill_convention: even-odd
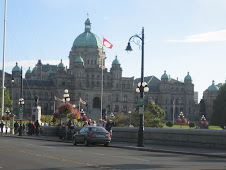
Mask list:
[[[139,94],[135,92],[140,79],[122,77],[121,64],[116,56],[110,70],[105,68],[106,54],[100,39],[91,33],[89,18],[85,22],[85,32],[74,41],[69,52],[69,68],[62,61],[58,65],[42,64],[39,60],[36,66],[27,70],[21,83],[21,69],[16,66],[12,75],[6,76],[6,87],[13,98],[13,112],[18,114],[18,100],[25,99],[25,116],[29,117],[34,106],[34,97],[38,96],[42,114],[52,114],[60,102],[54,96],[63,98],[64,90],[68,89],[72,104],[78,106],[80,98],[86,101],[81,108],[88,116],[100,115],[101,87],[103,72],[103,104],[102,108],[111,112],[128,113],[138,106]],[[102,67],[103,65],[103,67]],[[102,71],[103,68],[103,71]],[[11,83],[11,78],[15,82]],[[166,72],[161,80],[155,76],[145,77],[149,92],[145,93],[145,104],[153,100],[166,112],[166,120],[176,119],[179,112],[193,119],[194,85],[191,76],[185,77],[184,82],[170,78]],[[21,94],[23,85],[23,94]]]

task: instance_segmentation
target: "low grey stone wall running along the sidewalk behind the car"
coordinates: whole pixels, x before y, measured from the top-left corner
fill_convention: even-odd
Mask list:
[[[75,127],[79,131],[81,127]],[[45,135],[59,134],[59,127],[48,126]],[[113,127],[113,142],[138,142],[138,128]],[[195,146],[226,149],[226,130],[145,128],[144,144]]]

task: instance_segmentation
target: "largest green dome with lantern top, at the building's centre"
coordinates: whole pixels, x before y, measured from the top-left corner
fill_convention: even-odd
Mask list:
[[[102,48],[102,42],[98,36],[90,32],[91,22],[87,18],[85,22],[85,32],[80,34],[74,41],[73,47],[98,47]]]

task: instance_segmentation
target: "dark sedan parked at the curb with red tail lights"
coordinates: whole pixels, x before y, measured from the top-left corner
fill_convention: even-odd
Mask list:
[[[108,146],[111,141],[110,133],[99,126],[85,126],[73,135],[73,144],[104,144]]]

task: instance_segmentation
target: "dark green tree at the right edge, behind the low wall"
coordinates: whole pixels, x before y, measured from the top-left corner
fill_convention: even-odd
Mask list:
[[[226,84],[220,88],[219,94],[213,103],[211,124],[221,128],[226,126]]]

